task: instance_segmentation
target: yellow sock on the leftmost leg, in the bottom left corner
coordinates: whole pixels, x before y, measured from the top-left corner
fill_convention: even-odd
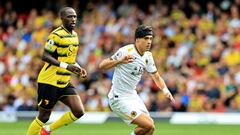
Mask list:
[[[36,118],[28,127],[27,135],[39,135],[40,129],[43,125],[44,123]]]

